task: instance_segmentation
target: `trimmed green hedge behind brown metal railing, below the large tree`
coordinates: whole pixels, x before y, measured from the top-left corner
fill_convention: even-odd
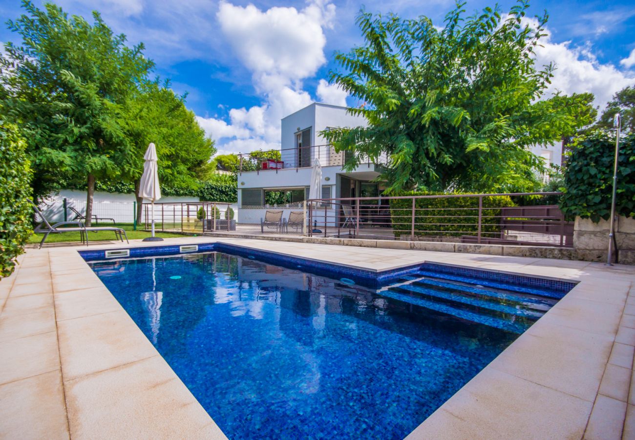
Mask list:
[[[400,196],[429,196],[444,193],[409,192]],[[483,237],[498,237],[500,208],[514,206],[509,196],[483,198]],[[468,208],[468,209],[466,209]],[[415,235],[460,237],[478,233],[478,197],[418,198],[415,202]],[[392,229],[395,237],[410,235],[412,199],[391,199]],[[462,216],[462,217],[453,217]],[[491,216],[497,216],[492,218]],[[444,223],[439,225],[439,223]],[[451,223],[451,224],[448,224]]]

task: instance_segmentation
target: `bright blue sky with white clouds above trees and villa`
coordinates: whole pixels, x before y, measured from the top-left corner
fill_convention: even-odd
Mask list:
[[[36,4],[42,2],[36,0]],[[143,41],[178,93],[188,92],[196,113],[221,153],[277,148],[279,119],[313,100],[355,105],[324,80],[335,51],[361,43],[354,19],[368,11],[401,17],[427,15],[437,25],[453,1],[385,0],[358,3],[239,0],[60,0],[69,13],[102,13],[131,44]],[[468,11],[493,6],[468,1]],[[507,11],[512,1],[500,2]],[[536,1],[531,15],[547,10],[549,36],[538,62],[558,66],[552,90],[591,91],[603,107],[625,85],[635,85],[635,8],[626,1]],[[1,0],[3,21],[21,13],[18,0]],[[6,27],[0,41],[15,41]]]

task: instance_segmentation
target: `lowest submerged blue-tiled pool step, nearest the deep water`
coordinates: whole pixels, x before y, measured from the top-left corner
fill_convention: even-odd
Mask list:
[[[434,310],[434,312],[445,313],[446,315],[451,315],[458,319],[476,322],[478,324],[484,324],[486,326],[495,327],[497,329],[511,331],[512,333],[521,334],[526,329],[528,329],[531,324],[533,324],[533,320],[529,320],[523,317],[516,317],[515,315],[512,315],[512,319],[510,320],[501,319],[490,315],[483,315],[481,313],[471,312],[469,310],[464,310],[462,308],[450,306],[436,301],[430,301],[429,299],[421,298],[419,296],[403,294],[392,288],[381,290],[377,293],[385,296],[386,298],[396,299],[397,301],[401,301],[403,303],[409,303],[411,305],[424,307],[429,310]],[[516,318],[518,320],[516,320]]]

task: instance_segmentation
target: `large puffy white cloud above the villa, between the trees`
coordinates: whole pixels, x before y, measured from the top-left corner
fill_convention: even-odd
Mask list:
[[[220,3],[220,30],[251,72],[264,103],[231,109],[229,123],[197,118],[206,133],[219,141],[219,153],[279,146],[281,118],[312,102],[311,95],[302,89],[302,81],[326,63],[323,29],[330,27],[334,17],[335,5],[326,0],[314,0],[302,10],[274,7],[263,11],[253,4]],[[335,96],[334,90],[321,90]]]

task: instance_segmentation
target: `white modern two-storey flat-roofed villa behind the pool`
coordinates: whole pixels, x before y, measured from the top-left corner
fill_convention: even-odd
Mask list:
[[[382,163],[361,163],[347,172],[342,168],[345,153],[335,149],[320,132],[336,127],[367,125],[363,116],[347,113],[347,107],[313,104],[282,119],[281,160],[258,163],[255,171],[238,175],[238,217],[241,223],[258,223],[267,206],[268,192],[284,192],[291,203],[277,207],[297,209],[298,202],[309,198],[311,167],[314,159],[322,166],[322,198],[375,197],[384,187],[374,182],[380,175]],[[535,146],[531,151],[549,165],[560,165],[561,144]],[[385,161],[378,161],[385,162]],[[288,216],[288,212],[284,212]]]

